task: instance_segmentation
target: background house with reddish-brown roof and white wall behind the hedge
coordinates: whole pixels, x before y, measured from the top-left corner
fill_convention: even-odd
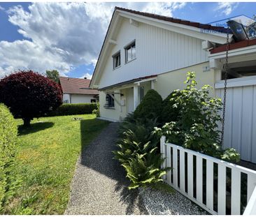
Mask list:
[[[63,103],[96,103],[99,101],[99,91],[89,89],[89,79],[75,77],[59,77],[63,91]]]

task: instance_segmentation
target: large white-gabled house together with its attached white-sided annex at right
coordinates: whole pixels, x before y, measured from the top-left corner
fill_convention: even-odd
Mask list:
[[[149,89],[162,98],[183,89],[187,71],[198,87],[223,97],[227,29],[115,8],[90,88],[99,89],[101,118],[120,121]],[[256,163],[256,39],[229,34],[225,147]],[[236,42],[235,42],[236,41]]]

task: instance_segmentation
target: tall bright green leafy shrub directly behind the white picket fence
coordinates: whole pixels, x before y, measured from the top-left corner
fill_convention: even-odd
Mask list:
[[[209,156],[229,161],[238,161],[239,154],[234,149],[223,150],[220,144],[218,123],[222,120],[220,98],[209,97],[209,85],[196,89],[194,73],[187,73],[187,88],[173,91],[170,99],[170,115],[178,119],[155,128],[155,133],[166,135],[167,140],[187,149],[199,151]]]

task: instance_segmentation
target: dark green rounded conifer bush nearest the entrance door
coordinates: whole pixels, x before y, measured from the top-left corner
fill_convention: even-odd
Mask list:
[[[154,119],[156,117],[161,117],[161,113],[162,96],[160,96],[157,91],[150,89],[145,94],[138,107],[136,107],[134,118]]]

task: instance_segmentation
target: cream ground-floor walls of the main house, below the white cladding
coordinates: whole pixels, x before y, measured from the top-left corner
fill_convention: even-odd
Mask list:
[[[200,88],[204,86],[204,84],[210,84],[211,87],[214,87],[215,83],[215,71],[208,70],[206,72],[203,71],[203,67],[208,66],[208,62],[197,64],[195,66],[190,66],[187,68],[181,68],[178,70],[173,70],[169,73],[163,73],[157,76],[157,82],[154,84],[154,89],[162,96],[163,100],[166,96],[171,93],[171,91],[175,89],[184,89],[186,84],[184,81],[186,80],[187,71],[194,71],[196,73],[197,87]],[[149,89],[151,89],[150,82],[141,83],[140,87],[144,88],[144,96],[145,93]],[[120,106],[115,102],[115,109],[106,109],[104,107],[106,103],[106,94],[101,91],[99,94],[99,103],[100,103],[100,116],[108,119],[120,120],[126,117],[129,111],[129,102],[130,99],[133,98],[133,89],[123,89],[121,90],[124,96],[120,98],[120,95],[116,95],[115,97],[120,100],[125,100],[125,106],[122,106],[122,112],[120,112]],[[215,96],[215,89],[211,91],[212,96]],[[139,98],[139,100],[141,100]]]

